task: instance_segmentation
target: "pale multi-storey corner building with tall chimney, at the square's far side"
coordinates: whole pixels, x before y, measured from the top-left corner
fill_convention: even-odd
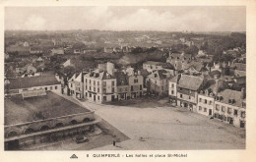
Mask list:
[[[106,69],[96,69],[85,75],[85,98],[96,103],[115,101],[117,98],[117,81],[114,72],[114,64],[107,62]]]

